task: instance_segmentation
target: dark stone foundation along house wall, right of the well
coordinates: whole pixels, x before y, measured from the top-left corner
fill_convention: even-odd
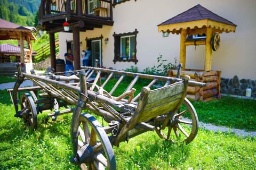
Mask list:
[[[229,95],[239,95],[245,96],[246,89],[252,89],[251,97],[256,97],[256,80],[251,79],[241,79],[234,76],[233,79],[221,78],[220,83],[220,92],[221,94],[229,94]]]

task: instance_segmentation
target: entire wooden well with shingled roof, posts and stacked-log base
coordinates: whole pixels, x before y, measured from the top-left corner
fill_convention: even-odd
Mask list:
[[[237,25],[198,4],[157,26],[158,32],[181,35],[180,63],[182,64],[182,74],[188,74],[196,81],[207,83],[204,88],[189,87],[188,96],[190,95],[195,100],[220,98],[221,71],[211,70],[212,51],[218,50],[220,46],[219,33],[235,32]],[[193,38],[193,36],[201,38]],[[204,70],[186,70],[186,46],[189,45],[205,45]],[[174,77],[175,75],[174,70],[169,71],[169,76]]]

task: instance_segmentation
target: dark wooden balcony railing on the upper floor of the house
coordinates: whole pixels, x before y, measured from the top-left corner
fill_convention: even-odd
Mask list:
[[[42,0],[39,20],[57,15],[74,15],[113,21],[111,0]]]

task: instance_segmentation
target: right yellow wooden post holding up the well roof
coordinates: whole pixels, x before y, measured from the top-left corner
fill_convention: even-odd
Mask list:
[[[212,67],[212,47],[211,47],[211,38],[212,38],[212,28],[208,27],[206,29],[206,40],[205,40],[205,55],[204,55],[204,71],[211,71]]]

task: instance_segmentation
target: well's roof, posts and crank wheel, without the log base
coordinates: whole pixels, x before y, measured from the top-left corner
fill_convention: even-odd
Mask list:
[[[180,63],[182,70],[186,68],[186,46],[205,45],[204,71],[211,71],[212,50],[218,50],[220,36],[218,33],[235,32],[234,23],[207,10],[201,5],[196,5],[189,10],[157,25],[158,32],[180,34]],[[190,35],[206,35],[202,40],[187,40]]]

